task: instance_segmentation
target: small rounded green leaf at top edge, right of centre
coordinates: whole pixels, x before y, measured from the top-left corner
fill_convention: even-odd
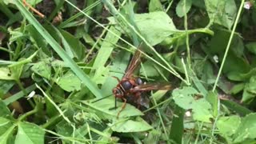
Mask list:
[[[190,11],[191,6],[192,6],[192,0],[186,0],[186,3],[185,3],[185,0],[180,0],[178,2],[178,5],[176,6],[176,14],[178,15],[178,17],[179,18],[184,17],[184,15]]]

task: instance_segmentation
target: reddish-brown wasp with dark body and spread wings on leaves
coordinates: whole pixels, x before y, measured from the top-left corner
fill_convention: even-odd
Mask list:
[[[134,70],[138,68],[141,62],[141,47],[142,44],[138,47],[135,51],[133,58],[131,59],[129,65],[126,68],[126,73],[123,75],[122,79],[118,79],[118,85],[114,87],[113,94],[115,96],[115,107],[117,98],[122,99],[122,109],[118,111],[118,115],[121,113],[122,110],[126,107],[126,102],[132,103],[140,106],[148,105],[146,101],[149,102],[149,99],[142,95],[143,92],[150,91],[150,90],[170,90],[172,87],[170,84],[166,83],[144,83],[142,79],[139,77],[134,77]]]

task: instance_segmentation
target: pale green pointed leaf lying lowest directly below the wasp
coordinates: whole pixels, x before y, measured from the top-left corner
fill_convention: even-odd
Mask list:
[[[152,126],[139,117],[137,117],[135,120],[120,119],[108,124],[108,126],[110,126],[113,131],[118,133],[142,132],[153,129]]]

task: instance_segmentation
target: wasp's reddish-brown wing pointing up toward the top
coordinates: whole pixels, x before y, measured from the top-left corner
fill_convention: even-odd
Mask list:
[[[134,70],[136,70],[136,68],[139,66],[140,62],[141,62],[141,46],[138,46],[137,50],[134,53],[133,58],[131,58],[129,66],[126,69],[126,74],[124,74],[123,78],[131,78],[132,74],[134,73]]]

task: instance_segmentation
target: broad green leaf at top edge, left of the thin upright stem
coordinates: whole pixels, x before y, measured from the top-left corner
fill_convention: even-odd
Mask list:
[[[234,0],[206,0],[205,3],[210,20],[230,29],[237,14]]]

